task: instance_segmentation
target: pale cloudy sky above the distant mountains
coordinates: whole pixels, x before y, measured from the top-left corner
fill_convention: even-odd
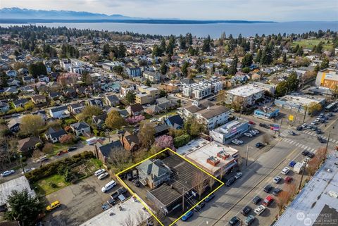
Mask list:
[[[338,20],[337,0],[0,0],[0,8],[189,20]]]

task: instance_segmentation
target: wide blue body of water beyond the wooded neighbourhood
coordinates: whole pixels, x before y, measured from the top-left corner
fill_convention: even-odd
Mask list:
[[[0,24],[1,27],[8,27],[18,24]],[[148,23],[36,23],[46,27],[75,27],[78,29],[108,30],[117,32],[137,32],[140,34],[162,34],[180,35],[187,32],[196,37],[212,38],[220,37],[222,32],[228,36],[232,34],[237,37],[242,34],[244,37],[255,34],[301,34],[303,32],[318,30],[338,31],[338,21],[335,22],[284,22],[284,23],[215,23],[215,24],[148,24]]]

